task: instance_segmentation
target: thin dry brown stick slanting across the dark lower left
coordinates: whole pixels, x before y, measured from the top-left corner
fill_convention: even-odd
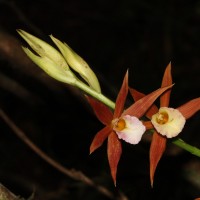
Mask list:
[[[6,115],[6,113],[0,109],[0,117],[6,122],[6,124],[13,130],[13,132],[24,142],[26,143],[37,155],[39,155],[43,160],[52,165],[58,171],[63,174],[69,176],[70,178],[78,181],[82,181],[86,185],[89,185],[96,190],[98,190],[103,195],[107,196],[110,199],[115,199],[115,196],[112,192],[106,189],[104,186],[95,184],[89,177],[84,175],[82,172],[77,171],[75,169],[69,170],[66,167],[62,166],[60,163],[56,162],[52,158],[50,158],[46,153],[44,153],[40,148],[38,148],[25,134],[24,132],[18,128],[15,123]],[[119,200],[126,200],[127,197],[122,193],[119,194],[117,198]]]

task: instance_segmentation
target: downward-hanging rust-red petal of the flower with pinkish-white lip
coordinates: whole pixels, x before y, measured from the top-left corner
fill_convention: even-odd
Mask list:
[[[112,132],[108,136],[107,153],[108,153],[108,161],[110,165],[111,176],[112,176],[114,185],[116,186],[117,166],[122,154],[122,146],[115,132]]]

